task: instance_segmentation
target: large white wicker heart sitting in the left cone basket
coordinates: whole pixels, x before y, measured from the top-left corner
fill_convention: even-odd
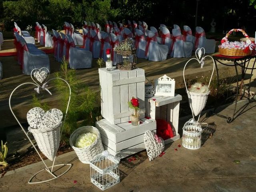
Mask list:
[[[60,124],[63,114],[59,109],[44,111],[40,107],[34,107],[27,113],[27,120],[30,127],[40,130],[49,130]]]

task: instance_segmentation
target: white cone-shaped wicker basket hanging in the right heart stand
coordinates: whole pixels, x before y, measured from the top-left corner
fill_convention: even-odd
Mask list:
[[[195,116],[198,116],[202,110],[204,109],[208,95],[210,94],[210,91],[206,93],[193,93],[190,91],[187,91],[188,93],[188,99],[190,108],[193,111]]]

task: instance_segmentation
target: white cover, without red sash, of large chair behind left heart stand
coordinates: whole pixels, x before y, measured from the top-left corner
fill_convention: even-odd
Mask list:
[[[27,44],[22,36],[14,33],[18,42],[24,48],[23,51],[23,73],[30,75],[34,68],[46,67],[50,71],[50,60],[48,55],[39,50],[34,44]]]

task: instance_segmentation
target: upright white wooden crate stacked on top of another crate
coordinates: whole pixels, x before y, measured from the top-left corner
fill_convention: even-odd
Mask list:
[[[112,124],[128,122],[132,110],[128,102],[132,97],[140,102],[140,118],[145,116],[144,70],[113,70],[99,68],[101,87],[101,114]]]

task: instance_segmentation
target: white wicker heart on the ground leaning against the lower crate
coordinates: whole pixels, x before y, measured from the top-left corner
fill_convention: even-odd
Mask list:
[[[154,135],[150,130],[147,130],[144,134],[144,144],[149,161],[158,157],[164,150],[164,140],[157,135]]]

